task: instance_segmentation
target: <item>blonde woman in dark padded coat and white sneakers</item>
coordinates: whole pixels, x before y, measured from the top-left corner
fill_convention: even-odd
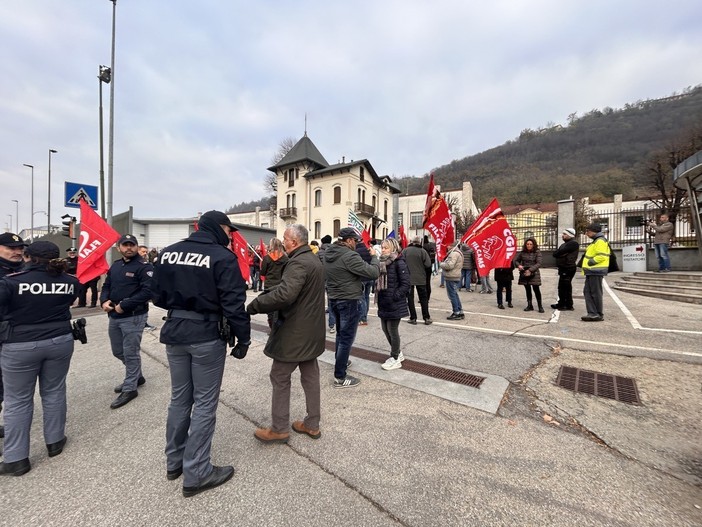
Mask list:
[[[409,315],[407,293],[410,277],[400,244],[394,238],[380,244],[380,276],[375,286],[378,317],[385,337],[390,343],[390,358],[381,367],[396,370],[402,367],[405,357],[400,351],[400,319]]]

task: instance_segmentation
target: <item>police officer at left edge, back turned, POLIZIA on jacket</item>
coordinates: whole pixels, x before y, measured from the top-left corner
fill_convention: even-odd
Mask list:
[[[66,375],[73,355],[70,306],[78,280],[65,273],[59,248],[45,241],[25,250],[25,270],[0,280],[0,341],[5,382],[5,459],[1,474],[31,470],[29,432],[39,380],[49,457],[66,444]]]

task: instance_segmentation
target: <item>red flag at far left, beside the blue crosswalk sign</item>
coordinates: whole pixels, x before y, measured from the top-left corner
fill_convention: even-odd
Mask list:
[[[110,270],[105,253],[119,240],[119,233],[110,227],[84,199],[80,200],[80,247],[76,276],[81,284]]]

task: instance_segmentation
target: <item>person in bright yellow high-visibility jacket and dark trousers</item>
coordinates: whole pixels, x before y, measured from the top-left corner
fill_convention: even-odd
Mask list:
[[[602,281],[609,270],[610,248],[607,239],[602,234],[599,223],[591,223],[585,229],[585,235],[592,240],[583,256],[583,274],[585,275],[585,307],[587,315],[580,317],[585,322],[602,322],[604,308],[602,297]]]

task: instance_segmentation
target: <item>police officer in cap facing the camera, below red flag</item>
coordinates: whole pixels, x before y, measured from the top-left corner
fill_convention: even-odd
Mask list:
[[[107,272],[100,293],[102,310],[110,317],[108,335],[112,354],[125,366],[124,382],[115,387],[119,393],[110,408],[120,408],[139,395],[137,386],[146,382],[141,374],[141,336],[149,313],[153,266],[137,253],[137,239],[125,234],[119,239],[122,258]]]

